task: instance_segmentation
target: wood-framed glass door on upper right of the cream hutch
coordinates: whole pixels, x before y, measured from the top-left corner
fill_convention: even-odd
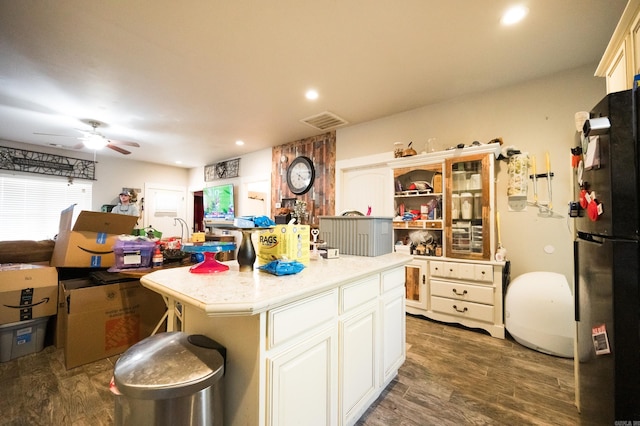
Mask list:
[[[447,257],[478,260],[491,258],[489,155],[446,160]]]

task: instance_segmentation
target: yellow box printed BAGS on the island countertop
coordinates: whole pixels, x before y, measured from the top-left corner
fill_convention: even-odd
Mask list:
[[[260,265],[286,257],[308,265],[309,225],[276,225],[258,234],[257,258]]]

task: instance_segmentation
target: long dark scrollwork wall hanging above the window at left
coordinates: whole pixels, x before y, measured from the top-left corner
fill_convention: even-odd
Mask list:
[[[0,146],[0,169],[96,180],[94,161],[5,146]]]

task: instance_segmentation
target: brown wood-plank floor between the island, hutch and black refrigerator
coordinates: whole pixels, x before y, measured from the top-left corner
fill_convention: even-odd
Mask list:
[[[589,424],[574,405],[572,359],[409,315],[407,346],[358,425]]]

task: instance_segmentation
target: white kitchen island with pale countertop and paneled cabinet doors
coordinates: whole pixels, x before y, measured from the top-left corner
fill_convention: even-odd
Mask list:
[[[411,256],[341,256],[302,272],[189,268],[141,282],[167,303],[168,331],[227,348],[225,424],[354,424],[405,359],[404,265]]]

